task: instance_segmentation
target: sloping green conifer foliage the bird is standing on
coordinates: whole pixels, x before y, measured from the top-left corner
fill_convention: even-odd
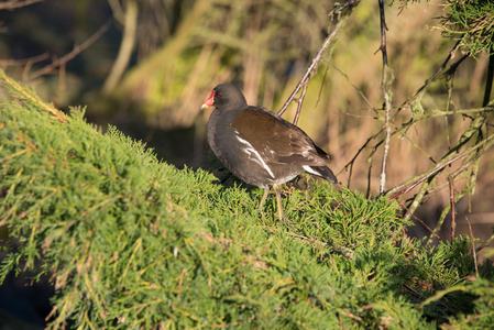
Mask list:
[[[261,189],[177,169],[117,129],[62,114],[3,76],[0,221],[9,272],[50,275],[48,329],[488,328],[494,267],[458,238],[431,250],[399,206],[308,182],[290,226]],[[39,265],[39,266],[36,266]]]

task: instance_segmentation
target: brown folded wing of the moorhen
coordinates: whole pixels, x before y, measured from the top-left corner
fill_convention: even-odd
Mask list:
[[[267,163],[323,166],[329,158],[303,130],[264,108],[243,109],[231,125]]]

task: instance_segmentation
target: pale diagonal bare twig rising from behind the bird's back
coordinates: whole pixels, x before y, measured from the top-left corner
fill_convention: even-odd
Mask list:
[[[338,9],[336,9],[336,12],[341,12],[343,9],[349,8],[349,7],[353,8],[356,4],[359,4],[359,2],[360,2],[360,0],[350,0],[345,4],[343,4],[343,6],[339,7]],[[347,18],[348,18],[348,15],[342,16],[338,21],[337,25],[334,26],[334,30],[326,37],[325,42],[322,43],[321,47],[317,52],[316,56],[314,56],[312,62],[308,66],[308,68],[305,72],[304,76],[301,77],[300,81],[298,81],[298,85],[295,87],[294,91],[290,94],[288,99],[285,101],[285,103],[283,105],[282,109],[279,109],[279,111],[278,111],[279,116],[282,116],[286,111],[288,106],[295,100],[296,95],[300,91],[300,88],[303,88],[304,86],[307,86],[307,84],[309,82],[312,74],[316,72],[316,69],[319,66],[319,63],[320,63],[322,54],[325,53],[326,48],[328,48],[330,43],[336,38],[336,36],[338,35],[338,32],[344,25],[344,22],[345,22]],[[304,101],[304,97],[305,97],[305,95],[303,94],[298,98],[299,99],[299,105]]]

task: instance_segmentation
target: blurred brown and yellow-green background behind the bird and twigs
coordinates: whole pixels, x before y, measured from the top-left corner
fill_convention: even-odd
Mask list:
[[[438,28],[442,3],[386,6],[394,109],[432,76],[454,45]],[[279,110],[331,31],[333,6],[314,0],[8,0],[0,3],[0,67],[58,109],[81,106],[88,122],[102,131],[116,125],[164,162],[198,168],[208,161],[211,111],[199,107],[212,88],[233,81],[250,105]],[[378,140],[362,150],[351,176],[345,166],[383,127],[376,120],[383,109],[380,45],[378,3],[364,0],[325,53],[298,122],[332,155],[330,167],[343,186],[369,196],[378,194],[382,147],[373,153]],[[454,52],[451,63],[462,55]],[[487,63],[482,52],[468,57],[452,79],[428,87],[421,107],[480,108]],[[284,118],[293,120],[295,109],[292,105]],[[402,111],[396,124],[409,118],[409,110]],[[392,140],[386,187],[429,169],[430,158],[440,158],[470,123],[462,116],[439,117],[416,124],[406,139]],[[492,155],[480,163],[475,194],[457,204],[458,233],[469,233],[466,217],[481,240],[494,224]],[[433,228],[449,202],[448,189],[438,191],[415,217]],[[443,239],[450,239],[448,228]],[[418,223],[410,234],[430,231]]]

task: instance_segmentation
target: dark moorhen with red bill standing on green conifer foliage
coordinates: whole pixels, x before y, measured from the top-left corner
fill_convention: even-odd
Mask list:
[[[326,166],[330,156],[297,125],[262,107],[248,106],[231,82],[220,84],[200,107],[216,107],[208,120],[208,143],[216,157],[244,183],[264,189],[262,210],[273,187],[277,216],[285,221],[279,185],[303,173],[338,179]]]

